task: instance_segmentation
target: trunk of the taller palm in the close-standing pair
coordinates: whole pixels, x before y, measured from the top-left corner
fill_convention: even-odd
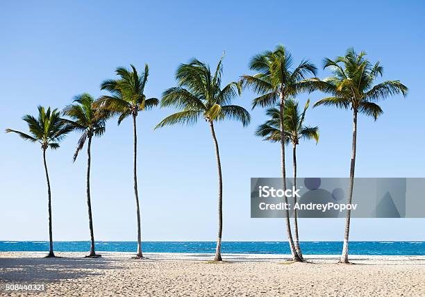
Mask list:
[[[284,130],[284,127],[283,127],[283,114],[285,113],[285,97],[283,96],[283,92],[281,92],[280,97],[281,97],[281,104],[280,104],[279,116],[280,116],[280,121],[281,121],[282,178],[283,178],[283,192],[285,192],[286,191],[285,130]],[[285,195],[283,195],[283,199],[284,199],[286,205],[288,205],[288,197],[286,197]],[[289,210],[285,210],[285,212],[286,212],[286,217],[285,217],[285,221],[286,221],[286,232],[288,234],[288,242],[289,242],[289,245],[290,245],[290,250],[291,250],[291,254],[292,254],[292,260],[298,262],[298,261],[300,261],[300,258],[299,258],[299,255],[297,254],[297,251],[295,251],[294,240],[292,239],[291,222],[290,222]]]

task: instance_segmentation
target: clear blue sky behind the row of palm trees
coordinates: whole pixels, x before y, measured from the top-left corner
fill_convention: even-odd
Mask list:
[[[175,85],[174,71],[196,57],[215,65],[226,51],[224,82],[249,73],[253,54],[284,44],[294,60],[342,55],[349,46],[380,60],[385,79],[410,88],[408,99],[382,103],[374,122],[360,117],[358,177],[424,177],[425,4],[423,1],[8,1],[0,10],[0,129],[26,130],[22,116],[37,105],[63,108],[82,92],[99,96],[103,79],[133,63],[151,68],[147,96]],[[314,102],[323,94],[310,95]],[[236,102],[250,109],[253,94]],[[307,94],[299,96],[303,104]],[[153,127],[172,110],[140,114],[139,187],[144,240],[215,240],[217,172],[213,140],[200,121],[192,128]],[[249,178],[278,177],[276,144],[248,128],[218,124],[224,175],[224,240],[285,240],[283,219],[250,219]],[[346,177],[351,114],[315,108],[316,146],[299,146],[299,176]],[[56,240],[88,240],[85,152],[72,164],[78,135],[49,151]],[[47,191],[35,144],[0,133],[0,240],[44,240]],[[131,121],[107,124],[92,143],[92,207],[97,240],[135,240]],[[290,155],[288,155],[290,158]],[[288,173],[291,173],[290,168]],[[425,219],[353,220],[353,240],[425,240]],[[303,219],[301,240],[340,240],[343,220]]]

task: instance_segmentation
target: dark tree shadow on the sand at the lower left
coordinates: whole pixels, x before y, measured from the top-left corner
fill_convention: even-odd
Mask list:
[[[0,258],[0,282],[57,282],[120,269],[114,260],[84,258]]]

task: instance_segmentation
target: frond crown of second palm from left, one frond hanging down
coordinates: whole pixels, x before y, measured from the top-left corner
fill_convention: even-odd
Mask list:
[[[78,145],[74,153],[75,161],[78,153],[85,144],[85,140],[92,136],[100,137],[105,133],[106,120],[111,116],[111,112],[98,108],[90,94],[84,93],[74,98],[74,104],[68,105],[63,110],[63,114],[73,121],[67,121],[74,130],[81,132]]]

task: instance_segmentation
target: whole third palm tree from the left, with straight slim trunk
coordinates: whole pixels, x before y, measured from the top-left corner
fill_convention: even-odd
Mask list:
[[[138,134],[136,130],[136,117],[139,112],[150,110],[158,105],[156,98],[147,99],[144,95],[149,76],[149,66],[144,65],[144,71],[139,74],[133,65],[128,70],[124,67],[118,67],[115,72],[119,79],[108,79],[101,84],[101,90],[110,92],[110,96],[102,96],[98,103],[101,108],[109,110],[111,114],[118,115],[118,125],[128,116],[133,117],[133,178],[134,194],[136,201],[136,212],[138,217],[138,251],[136,257],[142,258],[142,229],[140,223],[140,205],[138,194],[138,176],[137,176],[137,152],[138,152]]]

